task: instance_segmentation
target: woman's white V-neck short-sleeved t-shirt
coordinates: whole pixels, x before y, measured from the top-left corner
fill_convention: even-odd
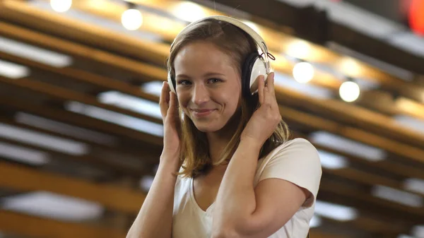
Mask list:
[[[305,188],[313,195],[293,218],[269,238],[307,237],[321,176],[322,168],[317,150],[302,138],[283,143],[258,161],[254,186],[263,179],[279,178]],[[210,238],[214,204],[206,211],[201,210],[194,199],[193,179],[177,178],[172,238]]]

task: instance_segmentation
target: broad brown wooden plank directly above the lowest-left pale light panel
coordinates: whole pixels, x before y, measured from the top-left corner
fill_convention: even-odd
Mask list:
[[[146,194],[136,189],[88,182],[7,162],[0,162],[0,174],[0,186],[7,189],[25,192],[50,191],[100,203],[111,210],[131,215],[139,212],[146,198]]]

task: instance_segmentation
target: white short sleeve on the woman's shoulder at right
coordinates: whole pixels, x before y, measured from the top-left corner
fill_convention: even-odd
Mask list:
[[[259,181],[278,178],[307,189],[312,196],[303,206],[308,208],[317,198],[321,177],[322,167],[317,149],[309,141],[295,138],[280,145],[265,158]]]

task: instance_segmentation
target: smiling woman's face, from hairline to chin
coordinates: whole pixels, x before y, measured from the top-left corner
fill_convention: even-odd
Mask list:
[[[222,129],[239,107],[240,73],[210,42],[193,42],[175,57],[179,105],[199,131]]]

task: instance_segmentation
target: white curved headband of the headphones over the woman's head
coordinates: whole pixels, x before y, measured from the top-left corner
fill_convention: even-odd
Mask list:
[[[266,64],[266,71],[269,73],[270,65],[269,65],[269,58],[268,58],[268,54],[269,54],[268,47],[266,47],[265,41],[264,39],[262,39],[261,35],[259,35],[256,31],[250,28],[249,25],[246,25],[245,23],[242,23],[240,20],[237,20],[235,18],[230,18],[228,16],[208,16],[206,18],[201,18],[199,20],[196,20],[190,23],[189,25],[194,25],[196,23],[199,23],[207,19],[216,19],[226,23],[230,23],[232,25],[237,26],[238,28],[245,31],[248,35],[250,35],[253,38],[253,40],[257,43],[261,51],[264,53],[264,62]],[[182,32],[184,32],[189,27],[189,25],[187,25],[186,28],[184,28],[181,32],[179,32],[177,37],[179,36],[179,34],[182,34]],[[177,37],[175,37],[175,39],[177,39]],[[174,43],[172,42],[172,44]],[[171,44],[171,48],[172,48],[172,44]]]

